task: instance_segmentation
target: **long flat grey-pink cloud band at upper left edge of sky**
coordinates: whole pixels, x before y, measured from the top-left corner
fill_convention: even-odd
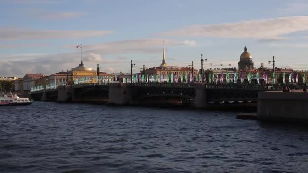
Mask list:
[[[76,31],[76,30],[29,30],[17,28],[1,28],[0,41],[42,40],[97,37],[112,34],[112,31]]]

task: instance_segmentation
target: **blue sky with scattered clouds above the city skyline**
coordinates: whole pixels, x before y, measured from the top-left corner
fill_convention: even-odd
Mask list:
[[[52,74],[80,64],[129,73],[166,63],[308,68],[305,0],[0,0],[0,76]],[[76,48],[82,44],[82,49]],[[81,54],[82,51],[82,54]]]

